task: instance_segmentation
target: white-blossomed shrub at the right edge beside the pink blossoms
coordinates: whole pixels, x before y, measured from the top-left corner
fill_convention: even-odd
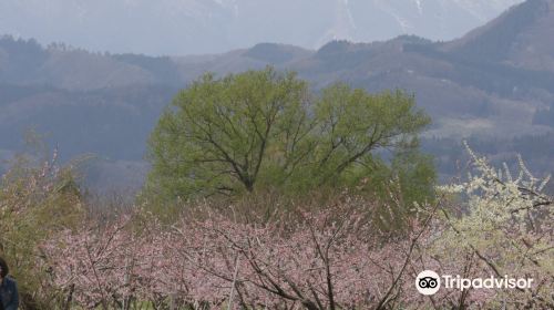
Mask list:
[[[465,183],[445,186],[445,193],[466,197],[461,216],[444,210],[445,229],[433,244],[437,259],[458,261],[471,258],[468,272],[485,277],[514,275],[532,278],[529,290],[494,290],[475,297],[488,307],[506,304],[517,309],[547,309],[554,306],[554,200],[543,194],[550,180],[535,178],[519,156],[520,173],[513,177],[507,165],[496,170],[486,158],[466,145],[474,174]],[[485,302],[486,301],[486,302]]]

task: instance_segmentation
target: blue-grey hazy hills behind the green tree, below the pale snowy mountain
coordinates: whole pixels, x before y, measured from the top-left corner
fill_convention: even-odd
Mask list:
[[[140,183],[147,135],[178,89],[206,71],[274,65],[297,71],[316,90],[343,81],[370,91],[413,92],[433,117],[423,145],[443,175],[454,173],[462,137],[496,158],[520,152],[533,168],[554,172],[552,33],[554,0],[529,0],[448,42],[403,35],[334,41],[318,50],[259,43],[215,55],[152,58],[4,38],[0,153],[18,149],[21,133],[34,125],[65,158],[95,153],[109,159],[93,177]]]

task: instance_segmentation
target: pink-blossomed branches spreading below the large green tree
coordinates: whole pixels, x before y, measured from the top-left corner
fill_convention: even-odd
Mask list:
[[[358,202],[359,203],[359,202]],[[414,296],[408,266],[430,220],[406,239],[383,244],[368,215],[339,209],[267,223],[212,214],[140,234],[129,218],[64,231],[45,246],[64,298],[82,307],[195,309],[390,308]],[[416,224],[414,224],[416,226]]]

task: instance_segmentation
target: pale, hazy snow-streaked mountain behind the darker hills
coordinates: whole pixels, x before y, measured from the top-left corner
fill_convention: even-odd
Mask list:
[[[0,33],[92,51],[214,53],[258,42],[319,49],[401,34],[451,40],[522,0],[2,0]]]

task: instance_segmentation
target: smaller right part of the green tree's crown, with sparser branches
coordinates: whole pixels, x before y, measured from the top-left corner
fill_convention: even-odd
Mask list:
[[[368,94],[336,84],[324,90],[315,106],[317,184],[352,184],[382,168],[375,151],[413,152],[417,135],[430,120],[403,92]],[[321,182],[322,180],[322,182]]]

